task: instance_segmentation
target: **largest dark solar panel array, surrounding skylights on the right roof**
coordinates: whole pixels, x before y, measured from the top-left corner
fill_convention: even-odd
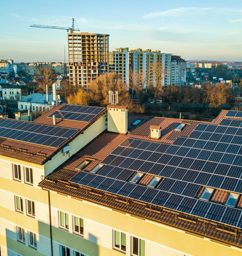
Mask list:
[[[241,209],[195,198],[201,186],[242,192],[242,126],[223,121],[230,123],[199,124],[173,144],[126,139],[97,175],[80,172],[71,181],[242,228]],[[164,179],[157,188],[128,182],[135,171]]]

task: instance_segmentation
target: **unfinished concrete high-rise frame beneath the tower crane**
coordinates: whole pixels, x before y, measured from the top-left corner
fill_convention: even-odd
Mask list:
[[[92,79],[109,72],[109,35],[68,33],[69,81],[87,88]]]

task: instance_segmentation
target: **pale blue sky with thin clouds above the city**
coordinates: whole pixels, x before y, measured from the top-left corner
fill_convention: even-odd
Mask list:
[[[107,33],[109,50],[160,50],[185,60],[242,61],[241,0],[0,1],[0,58],[68,62],[67,32]],[[65,58],[64,58],[65,49]]]

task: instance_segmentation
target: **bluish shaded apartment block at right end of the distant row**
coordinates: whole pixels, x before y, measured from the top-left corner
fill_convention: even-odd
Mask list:
[[[181,56],[171,56],[171,84],[184,85],[186,83],[186,60]]]

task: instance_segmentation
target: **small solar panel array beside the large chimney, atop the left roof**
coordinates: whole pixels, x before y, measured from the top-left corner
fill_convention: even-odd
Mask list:
[[[105,108],[65,104],[48,117],[52,118],[52,116],[55,115],[58,119],[82,121],[88,123],[103,110],[105,110]]]

